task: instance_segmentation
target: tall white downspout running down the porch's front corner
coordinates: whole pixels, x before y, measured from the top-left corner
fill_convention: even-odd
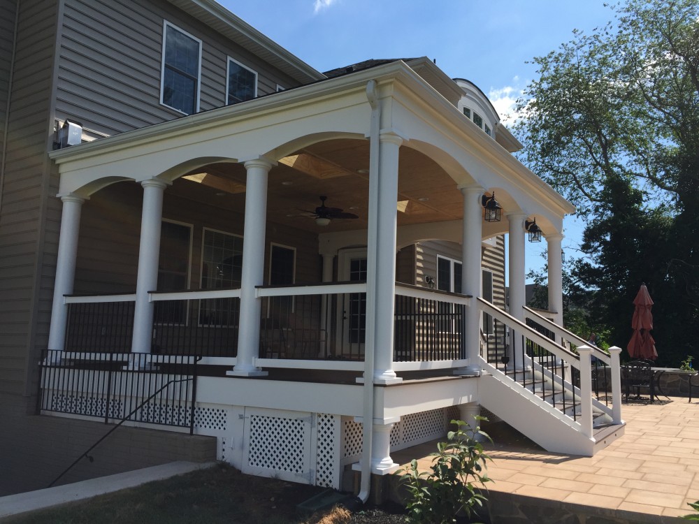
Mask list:
[[[378,189],[379,189],[379,131],[381,107],[376,96],[376,80],[369,80],[366,85],[366,98],[371,106],[371,119],[369,124],[369,217],[374,218],[374,224],[369,223],[367,231],[367,283],[366,293],[375,293],[376,275],[376,234],[372,233],[378,214]],[[371,198],[371,196],[375,198]],[[367,296],[367,302],[370,302]],[[361,453],[361,481],[359,483],[359,499],[366,502],[369,498],[371,488],[371,436],[374,422],[374,333],[375,333],[375,310],[366,319],[366,333],[370,335],[369,343],[364,344],[364,389],[363,389],[363,412],[362,412],[362,453]]]

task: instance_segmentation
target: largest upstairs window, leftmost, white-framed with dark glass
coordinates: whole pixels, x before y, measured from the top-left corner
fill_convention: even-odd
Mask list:
[[[199,110],[201,40],[165,22],[160,103],[191,115]]]

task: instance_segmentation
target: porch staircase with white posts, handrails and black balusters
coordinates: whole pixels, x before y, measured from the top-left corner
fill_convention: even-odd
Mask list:
[[[610,348],[611,355],[586,349],[584,340],[533,310],[525,307],[521,322],[478,300],[496,334],[484,338],[482,349],[484,408],[556,453],[593,456],[624,435],[619,348]],[[605,368],[611,383],[593,380],[606,377]]]

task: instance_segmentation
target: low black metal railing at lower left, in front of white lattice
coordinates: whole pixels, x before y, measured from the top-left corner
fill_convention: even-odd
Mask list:
[[[45,351],[39,363],[37,409],[193,432],[200,358]]]

